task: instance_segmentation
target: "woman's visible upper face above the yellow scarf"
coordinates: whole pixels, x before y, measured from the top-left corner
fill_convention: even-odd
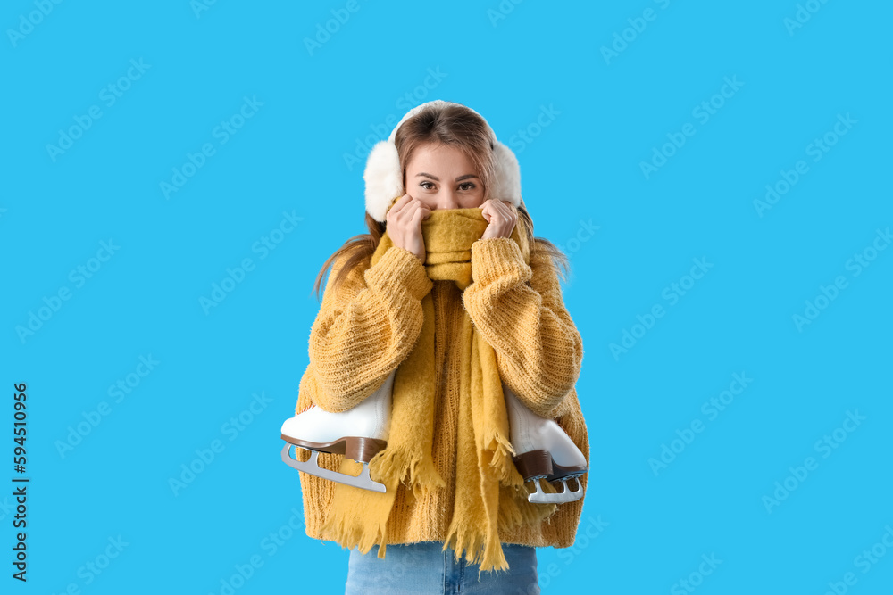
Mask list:
[[[484,203],[484,186],[472,161],[449,145],[426,143],[406,165],[406,194],[437,209],[471,209]]]

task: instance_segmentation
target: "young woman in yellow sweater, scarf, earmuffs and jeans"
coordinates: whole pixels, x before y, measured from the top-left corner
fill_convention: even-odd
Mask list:
[[[301,474],[307,534],[352,549],[348,594],[538,593],[535,548],[573,543],[588,466],[574,390],[582,340],[558,280],[566,257],[533,237],[519,176],[480,114],[424,103],[370,155],[370,233],[317,277],[318,293],[334,262],[296,414],[359,411],[393,393],[387,446],[367,469],[381,491]],[[549,480],[577,477],[576,500],[530,501],[535,474],[513,461],[522,411],[554,420],[524,440],[560,433],[585,456],[562,467],[555,447],[548,466]],[[315,459],[324,473],[357,475],[334,452]]]

